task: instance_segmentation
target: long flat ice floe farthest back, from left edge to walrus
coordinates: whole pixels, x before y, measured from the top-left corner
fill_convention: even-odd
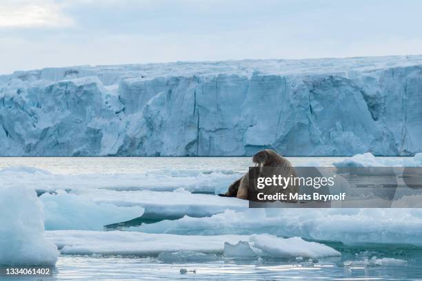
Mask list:
[[[36,176],[36,180],[34,180]],[[5,185],[28,185],[37,191],[57,189],[109,189],[116,191],[186,191],[214,194],[227,189],[240,177],[233,171],[201,171],[164,169],[159,171],[122,172],[116,174],[78,173],[54,174],[43,169],[18,166],[0,169],[0,182]]]

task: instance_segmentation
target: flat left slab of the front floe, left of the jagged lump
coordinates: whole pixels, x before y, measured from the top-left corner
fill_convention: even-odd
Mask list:
[[[130,231],[46,231],[61,253],[158,256],[160,253],[197,251],[223,253],[224,242],[236,244],[248,236],[179,236]]]

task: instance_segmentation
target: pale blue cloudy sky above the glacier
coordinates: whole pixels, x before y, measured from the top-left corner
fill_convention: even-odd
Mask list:
[[[422,1],[0,0],[0,74],[422,54]]]

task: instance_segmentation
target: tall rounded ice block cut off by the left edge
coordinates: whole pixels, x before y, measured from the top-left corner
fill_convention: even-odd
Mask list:
[[[35,191],[0,185],[0,264],[54,265],[58,256],[44,236],[43,207]]]

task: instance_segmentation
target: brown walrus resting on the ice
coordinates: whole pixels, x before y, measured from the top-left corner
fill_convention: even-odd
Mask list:
[[[293,176],[296,177],[296,172],[290,164],[289,160],[283,158],[281,155],[274,152],[272,149],[261,150],[252,157],[252,161],[255,165],[261,167],[280,167],[280,171],[284,176]],[[284,189],[286,193],[297,192],[298,187],[290,186]],[[235,180],[228,187],[228,191],[225,194],[219,194],[219,196],[225,197],[236,197],[239,199],[248,200],[249,199],[249,171],[243,175],[239,180]]]

